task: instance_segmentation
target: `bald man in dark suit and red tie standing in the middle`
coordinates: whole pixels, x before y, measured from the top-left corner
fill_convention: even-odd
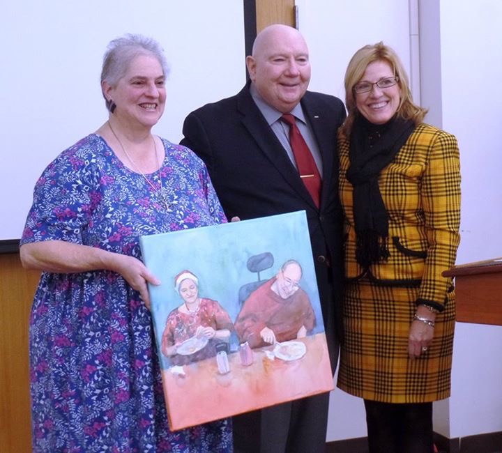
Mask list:
[[[307,44],[296,29],[266,27],[246,58],[250,81],[231,98],[204,105],[185,119],[181,143],[206,162],[229,219],[305,210],[317,285],[335,371],[341,332],[342,210],[337,197],[337,129],[342,101],[307,91]],[[289,142],[294,116],[314,162],[300,174]],[[315,189],[302,176],[317,172]],[[287,383],[284,383],[287,385]],[[328,394],[299,399],[234,417],[235,452],[324,452]]]

